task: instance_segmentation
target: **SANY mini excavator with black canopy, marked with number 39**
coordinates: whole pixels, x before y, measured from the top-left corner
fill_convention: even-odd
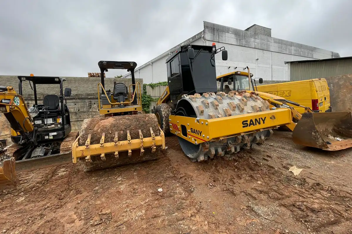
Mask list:
[[[65,79],[47,76],[18,76],[19,93],[13,87],[0,87],[0,112],[11,126],[9,147],[0,147],[0,183],[15,183],[18,166],[20,170],[37,168],[65,161],[71,154],[75,134],[71,133],[70,113],[64,103],[64,96],[70,96],[71,89],[63,93]],[[33,85],[34,105],[27,108],[22,96],[22,84]],[[43,104],[38,104],[37,85],[57,84],[60,96],[46,95]]]

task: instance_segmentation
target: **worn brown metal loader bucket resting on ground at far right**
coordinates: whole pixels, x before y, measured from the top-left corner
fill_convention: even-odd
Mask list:
[[[303,113],[293,134],[293,142],[326,151],[352,147],[351,112]]]

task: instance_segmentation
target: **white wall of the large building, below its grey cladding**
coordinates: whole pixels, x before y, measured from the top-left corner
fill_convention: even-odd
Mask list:
[[[199,38],[192,42],[196,45],[209,45],[213,41],[203,41]],[[285,61],[307,60],[303,56],[284,54],[263,49],[232,45],[226,43],[215,42],[216,48],[225,46],[228,51],[227,61],[221,60],[221,53],[215,55],[216,75],[222,75],[228,72],[241,71],[248,66],[253,77],[263,78],[263,80],[289,80],[288,65]],[[148,65],[135,71],[136,78],[142,78],[144,83],[156,83],[167,81],[166,58],[169,55],[154,61],[152,66]],[[256,60],[258,59],[258,60]],[[230,68],[228,68],[230,67]],[[234,69],[237,67],[237,69]],[[127,75],[126,78],[130,78]]]

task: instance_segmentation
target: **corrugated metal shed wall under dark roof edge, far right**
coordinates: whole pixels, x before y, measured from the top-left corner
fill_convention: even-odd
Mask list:
[[[345,74],[352,74],[352,59],[290,63],[290,81]]]

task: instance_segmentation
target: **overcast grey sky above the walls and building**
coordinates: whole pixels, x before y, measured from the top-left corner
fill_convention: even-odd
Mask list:
[[[87,76],[99,60],[142,65],[201,32],[203,21],[258,24],[272,37],[352,56],[351,9],[351,0],[1,0],[0,74]]]

